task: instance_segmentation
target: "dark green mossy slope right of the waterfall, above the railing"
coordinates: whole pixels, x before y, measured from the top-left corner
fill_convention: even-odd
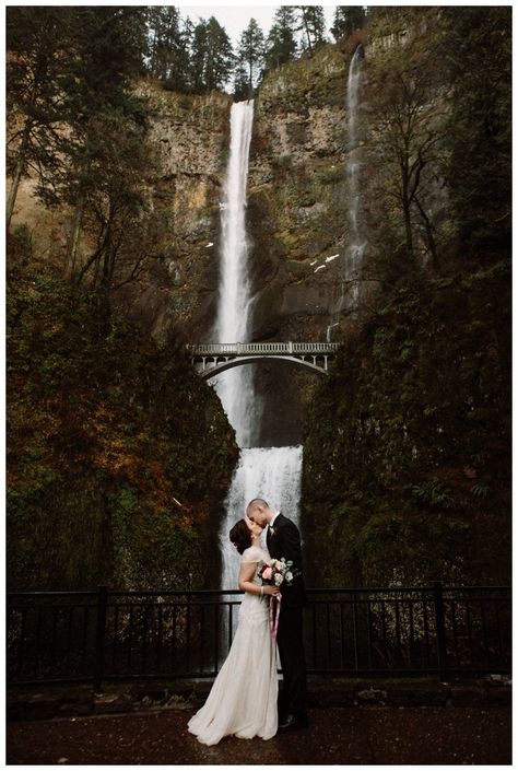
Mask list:
[[[509,266],[415,281],[344,346],[305,436],[316,585],[509,581]]]

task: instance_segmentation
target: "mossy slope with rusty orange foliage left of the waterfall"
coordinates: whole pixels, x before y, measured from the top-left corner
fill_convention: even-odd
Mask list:
[[[211,583],[237,457],[215,394],[48,266],[8,290],[10,588]]]

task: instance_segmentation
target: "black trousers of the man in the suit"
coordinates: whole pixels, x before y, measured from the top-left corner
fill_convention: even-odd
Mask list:
[[[283,685],[279,697],[281,714],[306,712],[306,661],[303,644],[302,606],[282,605],[276,634]]]

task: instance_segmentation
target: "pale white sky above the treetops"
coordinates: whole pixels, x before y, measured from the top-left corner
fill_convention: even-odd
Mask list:
[[[244,5],[243,3],[219,4],[213,5],[183,5],[175,3],[179,8],[183,16],[189,16],[191,22],[197,21],[198,16],[209,19],[215,16],[220,24],[225,27],[226,33],[231,37],[233,44],[236,44],[242,32],[248,26],[250,19],[255,19],[262,28],[264,35],[268,35],[272,25],[273,14],[279,8],[278,5]],[[280,3],[281,4],[281,3]],[[292,4],[292,3],[284,3]],[[329,34],[329,27],[332,26],[335,5],[323,5],[326,14],[326,30]]]

